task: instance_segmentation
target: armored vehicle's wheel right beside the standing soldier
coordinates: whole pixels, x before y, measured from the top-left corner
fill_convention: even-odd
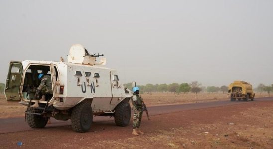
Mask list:
[[[117,126],[127,126],[131,118],[131,107],[128,102],[121,102],[115,108],[115,123]]]

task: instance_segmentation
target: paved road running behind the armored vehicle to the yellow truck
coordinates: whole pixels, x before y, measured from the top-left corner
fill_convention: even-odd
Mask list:
[[[246,103],[255,103],[261,101],[269,101],[273,100],[273,97],[266,97],[266,98],[255,98],[255,101],[243,102],[243,101],[215,101],[215,102],[205,102],[205,103],[191,103],[191,104],[179,104],[179,105],[164,105],[164,106],[152,106],[148,107],[149,115],[160,115],[160,114],[167,114],[172,112],[179,112],[179,111],[187,111],[187,110],[196,110],[196,109],[204,109],[204,108],[212,108],[212,107],[220,107],[220,106],[229,106],[229,105],[237,105],[237,104],[246,104]],[[144,117],[146,115],[144,114]],[[110,117],[101,117],[97,116],[93,119],[94,123],[102,122],[102,121],[113,121]],[[70,120],[68,121],[58,121],[54,118],[51,118],[50,125],[47,125],[47,128],[52,127],[61,127],[71,125]],[[2,133],[10,133],[10,132],[19,132],[19,131],[28,131],[33,130],[28,126],[26,122],[24,122],[24,117],[20,118],[5,118],[0,119],[0,134]]]

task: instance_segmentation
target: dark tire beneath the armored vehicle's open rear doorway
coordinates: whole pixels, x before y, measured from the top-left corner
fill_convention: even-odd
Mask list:
[[[34,109],[28,109],[27,112],[35,113]],[[44,128],[47,124],[48,118],[41,115],[26,114],[26,120],[32,128]]]

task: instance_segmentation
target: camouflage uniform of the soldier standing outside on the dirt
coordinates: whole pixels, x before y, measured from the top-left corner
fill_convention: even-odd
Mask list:
[[[136,129],[136,128],[139,128],[141,124],[141,118],[143,113],[142,112],[143,99],[138,94],[133,93],[132,104],[133,104],[132,109],[134,110],[133,129]]]

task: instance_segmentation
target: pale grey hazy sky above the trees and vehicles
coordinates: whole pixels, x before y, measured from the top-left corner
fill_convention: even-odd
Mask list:
[[[123,83],[273,84],[273,0],[0,0],[0,82],[10,60],[104,54]]]

